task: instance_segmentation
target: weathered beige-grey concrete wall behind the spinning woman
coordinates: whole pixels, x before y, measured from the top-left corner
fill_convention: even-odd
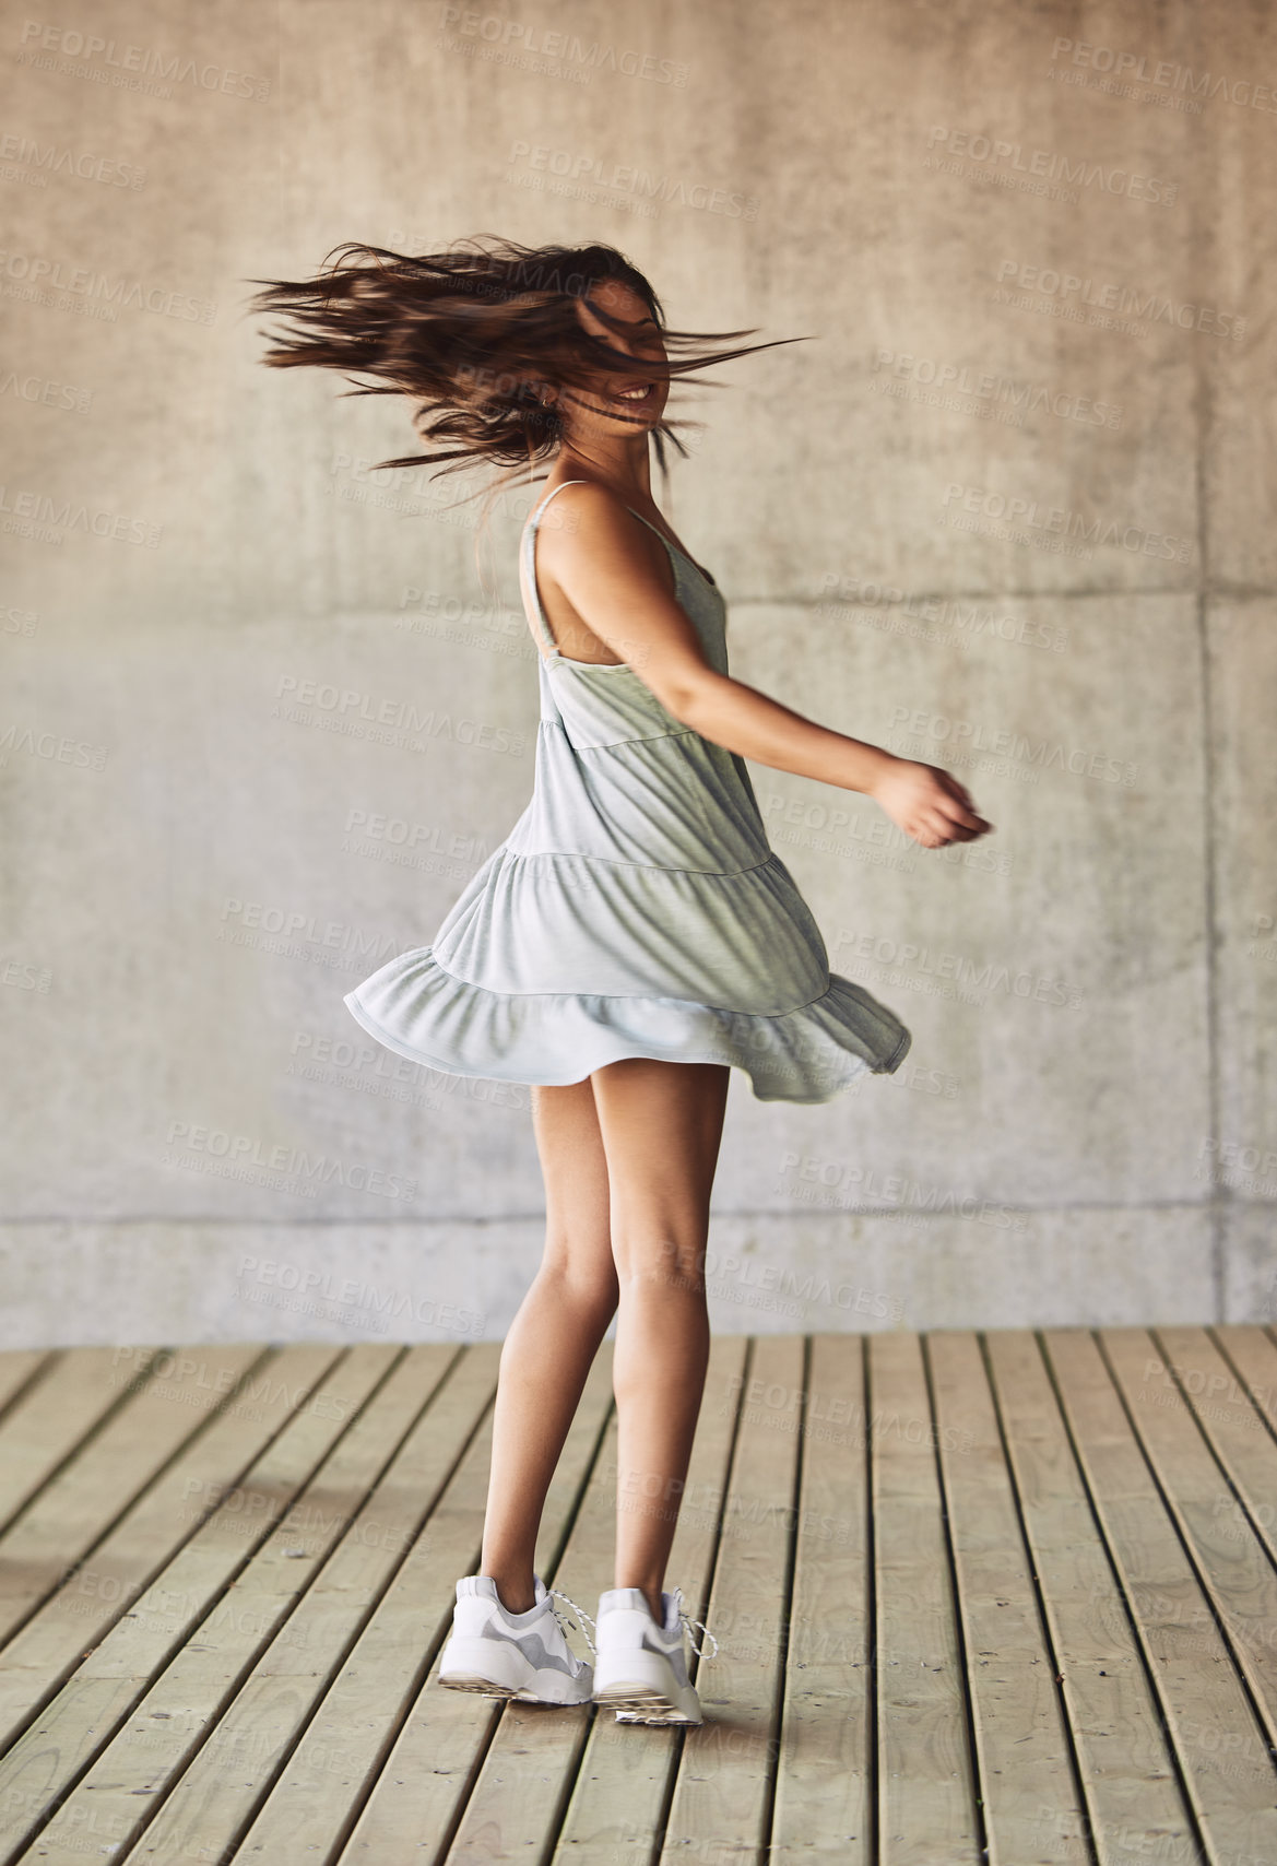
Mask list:
[[[493,1338],[532,1273],[526,1090],[342,1004],[528,797],[526,494],[480,537],[456,483],[368,472],[407,405],[260,368],[243,315],[338,241],[487,231],[620,244],[678,327],[810,336],[683,396],[667,509],[739,677],[997,825],[928,855],[754,767],[833,968],[915,1041],[823,1107],[734,1075],[715,1327],[1268,1316],[1271,13],[0,30],[4,1344]]]

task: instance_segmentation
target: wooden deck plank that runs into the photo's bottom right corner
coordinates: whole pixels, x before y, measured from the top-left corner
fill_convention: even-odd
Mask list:
[[[1047,1357],[1077,1444],[1094,1508],[1141,1648],[1156,1679],[1174,1754],[1212,1866],[1277,1859],[1277,1791],[1262,1728],[1184,1554],[1113,1383],[1102,1344],[1159,1358],[1146,1330],[1044,1330]],[[1202,1745],[1199,1730],[1227,1730],[1238,1754]]]

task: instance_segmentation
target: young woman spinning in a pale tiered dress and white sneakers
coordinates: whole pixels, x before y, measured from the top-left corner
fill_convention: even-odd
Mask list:
[[[521,552],[541,655],[532,799],[433,944],[344,1000],[403,1056],[532,1084],[545,1256],[502,1345],[482,1573],[457,1582],[441,1681],[700,1722],[683,1651],[698,1622],[663,1582],[706,1377],[730,1069],[762,1101],[818,1103],[866,1069],[894,1071],[911,1041],[829,972],[745,759],[861,791],[924,849],[991,825],[948,773],[728,674],[723,593],[652,498],[650,444],[663,470],[663,437],[685,452],[663,418],[672,377],[745,349],[672,360],[709,340],[668,330],[610,246],[338,254],[308,282],[254,280],[267,285],[256,308],[295,319],[267,364],[370,375],[388,386],[357,394],[409,396],[416,431],[456,442],[386,466],[487,461],[513,478],[549,461]],[[575,1603],[532,1564],[612,1316],[616,1586],[599,1601],[592,1670],[554,1597]]]

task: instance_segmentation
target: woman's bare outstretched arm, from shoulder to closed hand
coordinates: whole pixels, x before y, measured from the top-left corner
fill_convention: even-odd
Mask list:
[[[993,827],[939,765],[896,758],[883,746],[818,726],[711,668],[691,620],[657,575],[650,534],[638,519],[607,487],[571,485],[554,504],[566,500],[571,524],[543,524],[538,532],[538,575],[558,584],[594,634],[680,724],[758,765],[863,791],[928,849],[971,842]]]

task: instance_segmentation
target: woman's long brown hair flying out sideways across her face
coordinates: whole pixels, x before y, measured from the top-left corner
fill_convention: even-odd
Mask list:
[[[667,362],[642,360],[644,375],[653,379],[803,341],[777,338],[706,353],[704,345],[754,330],[668,330],[650,282],[622,252],[601,244],[521,246],[484,235],[457,241],[446,252],[409,256],[345,241],[329,252],[316,278],[246,284],[263,287],[250,299],[250,310],[293,319],[282,332],[261,332],[273,343],[263,364],[340,369],[349,383],[355,383],[349,371],[373,377],[386,386],[355,383],[345,394],[409,396],[418,403],[413,427],[422,440],[452,442],[448,452],[405,453],[377,466],[446,463],[442,472],[459,472],[489,461],[512,468],[497,481],[500,487],[519,478],[521,468],[534,478],[534,465],[556,453],[564,439],[564,420],[553,403],[540,399],[540,390],[590,388],[603,371],[635,369],[633,356],[592,336],[577,317],[575,300],[601,280],[629,285],[655,319],[670,355]],[[622,327],[597,300],[590,300],[590,310],[605,325]],[[667,483],[665,442],[687,457],[676,425],[704,424],[661,418],[652,427]]]

